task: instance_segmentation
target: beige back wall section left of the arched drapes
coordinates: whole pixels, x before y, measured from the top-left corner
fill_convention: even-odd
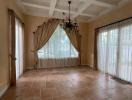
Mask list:
[[[25,60],[25,67],[32,68],[34,66],[34,43],[33,43],[33,32],[37,29],[39,25],[41,25],[44,21],[48,18],[46,17],[35,17],[35,16],[28,16],[25,15],[25,48],[26,48],[26,60]]]

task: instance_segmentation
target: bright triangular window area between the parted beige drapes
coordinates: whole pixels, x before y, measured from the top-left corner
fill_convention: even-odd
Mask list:
[[[49,41],[38,51],[40,59],[62,59],[78,57],[78,52],[71,44],[66,32],[57,27]]]

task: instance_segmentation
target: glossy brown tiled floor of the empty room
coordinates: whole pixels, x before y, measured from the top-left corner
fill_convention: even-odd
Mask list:
[[[132,100],[132,86],[87,67],[31,70],[0,100]]]

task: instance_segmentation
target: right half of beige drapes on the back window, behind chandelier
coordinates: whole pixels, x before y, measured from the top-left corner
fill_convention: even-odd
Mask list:
[[[67,33],[72,45],[76,48],[76,50],[79,53],[79,62],[81,64],[81,35],[79,34],[79,30],[77,28],[68,30],[64,29],[65,32]]]

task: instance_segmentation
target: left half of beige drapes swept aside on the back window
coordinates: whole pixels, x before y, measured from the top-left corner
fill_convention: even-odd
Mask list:
[[[60,22],[61,20],[59,19],[49,19],[47,22],[44,22],[42,25],[40,25],[36,32],[34,32],[35,68],[37,68],[38,63],[37,51],[41,49],[50,39]]]

